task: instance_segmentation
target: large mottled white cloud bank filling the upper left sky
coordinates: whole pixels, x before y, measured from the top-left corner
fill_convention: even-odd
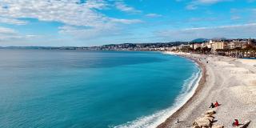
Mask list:
[[[121,6],[122,4],[119,4],[119,7]],[[85,3],[81,3],[79,0],[1,0],[0,15],[2,19],[0,18],[0,22],[26,24],[18,18],[37,18],[39,21],[45,22],[62,22],[65,27],[72,26],[77,29],[60,29],[61,34],[65,32],[78,34],[77,32],[79,32],[88,38],[92,34],[101,35],[110,28],[114,30],[114,27],[120,24],[141,22],[138,19],[110,18],[98,11],[106,10],[109,7],[109,3],[104,0],[87,0]],[[123,7],[123,10],[126,11],[137,11],[132,7]]]

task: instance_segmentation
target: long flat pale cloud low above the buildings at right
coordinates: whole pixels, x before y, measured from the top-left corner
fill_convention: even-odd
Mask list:
[[[171,40],[190,41],[194,38],[256,38],[256,23],[216,26],[216,27],[198,27],[183,30],[163,30],[158,32],[158,36]]]

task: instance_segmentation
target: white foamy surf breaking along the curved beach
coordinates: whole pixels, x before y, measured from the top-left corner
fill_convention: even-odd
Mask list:
[[[192,74],[192,76],[184,82],[182,86],[182,91],[175,99],[174,105],[170,106],[166,110],[160,110],[149,116],[144,116],[137,118],[133,122],[126,122],[125,124],[119,126],[113,126],[114,128],[155,128],[162,122],[165,122],[170,115],[174,114],[180,107],[182,107],[194,94],[196,88],[198,87],[198,82],[202,77],[202,70],[199,69],[197,73]]]

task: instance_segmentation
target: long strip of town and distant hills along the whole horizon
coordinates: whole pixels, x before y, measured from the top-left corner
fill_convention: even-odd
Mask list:
[[[37,50],[146,50],[215,54],[234,58],[256,58],[256,39],[198,38],[190,42],[122,43],[103,46],[8,46],[0,49]]]

